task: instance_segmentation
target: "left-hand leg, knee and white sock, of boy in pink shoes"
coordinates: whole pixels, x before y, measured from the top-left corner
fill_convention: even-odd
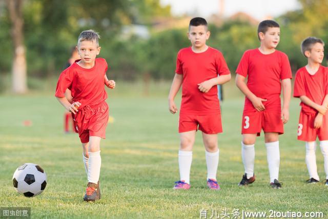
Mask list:
[[[193,158],[193,145],[195,142],[196,130],[180,133],[179,149],[179,172],[180,181],[190,184],[190,168]]]

